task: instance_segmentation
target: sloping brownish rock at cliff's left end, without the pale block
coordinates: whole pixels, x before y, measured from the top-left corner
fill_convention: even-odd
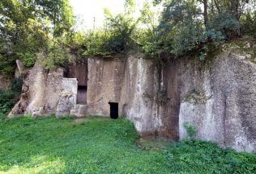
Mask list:
[[[22,93],[8,117],[33,113],[38,115],[41,108],[45,110],[45,114],[55,114],[62,89],[63,70],[59,68],[48,72],[37,63],[31,69],[19,69],[24,82]]]

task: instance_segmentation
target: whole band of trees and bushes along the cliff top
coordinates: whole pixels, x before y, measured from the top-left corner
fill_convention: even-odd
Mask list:
[[[16,59],[28,67],[36,60],[45,68],[63,66],[72,61],[70,53],[86,58],[139,51],[162,60],[193,52],[204,60],[226,41],[256,37],[254,0],[154,0],[139,17],[135,10],[135,0],[126,0],[122,14],[105,10],[103,27],[75,31],[68,0],[2,0],[0,73],[11,76]]]

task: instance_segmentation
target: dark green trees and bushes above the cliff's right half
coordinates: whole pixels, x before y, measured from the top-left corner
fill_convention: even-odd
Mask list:
[[[175,59],[193,53],[204,60],[208,52],[225,41],[254,33],[252,14],[255,6],[252,1],[156,0],[154,2],[156,5],[162,2],[164,10],[160,24],[155,29],[157,35],[154,47],[143,49],[148,55],[156,56],[158,52],[160,53],[160,56],[156,56],[158,58]],[[250,14],[247,14],[247,17],[245,17],[246,10]],[[245,25],[248,29],[241,30]],[[145,45],[151,43],[148,39]]]

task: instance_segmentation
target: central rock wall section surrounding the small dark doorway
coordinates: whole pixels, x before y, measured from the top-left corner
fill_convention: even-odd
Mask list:
[[[172,123],[177,126],[178,120],[167,113],[161,74],[160,67],[139,56],[89,59],[87,114],[109,116],[109,102],[118,103],[119,117],[134,122],[141,135],[177,139]]]

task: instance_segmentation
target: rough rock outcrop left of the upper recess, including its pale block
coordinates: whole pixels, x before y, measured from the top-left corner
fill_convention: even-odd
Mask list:
[[[46,71],[39,64],[31,69],[17,61],[23,77],[23,88],[19,102],[8,114],[9,118],[32,114],[33,118],[50,114],[70,114],[76,104],[77,80],[63,78],[62,68]],[[67,111],[68,110],[68,111]]]

